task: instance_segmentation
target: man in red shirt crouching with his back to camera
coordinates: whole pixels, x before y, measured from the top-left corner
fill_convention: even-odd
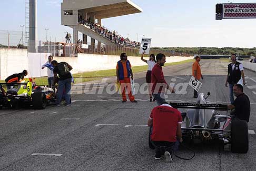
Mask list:
[[[147,125],[153,126],[151,142],[155,146],[156,160],[164,154],[165,162],[173,162],[171,152],[182,142],[181,123],[181,113],[168,103],[153,108]]]

